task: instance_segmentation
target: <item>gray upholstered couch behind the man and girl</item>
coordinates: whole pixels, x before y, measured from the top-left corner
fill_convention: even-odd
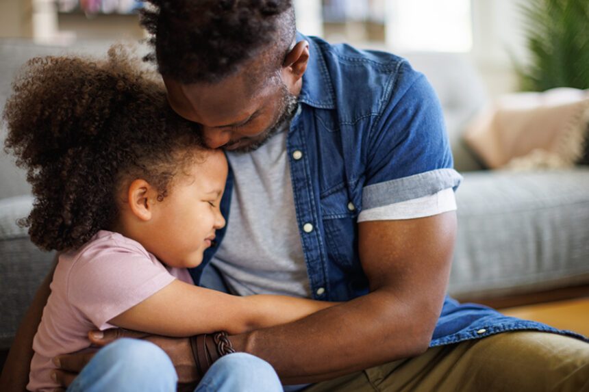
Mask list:
[[[73,51],[105,53],[108,43],[82,42]],[[29,57],[63,52],[23,40],[0,40],[0,107],[15,70]],[[589,170],[490,172],[464,146],[461,133],[486,101],[466,57],[407,56],[429,77],[444,107],[455,167],[458,241],[449,291],[459,298],[493,298],[589,283]],[[0,141],[5,130],[2,129]],[[0,350],[8,348],[53,254],[33,246],[16,220],[32,197],[25,176],[0,153]]]

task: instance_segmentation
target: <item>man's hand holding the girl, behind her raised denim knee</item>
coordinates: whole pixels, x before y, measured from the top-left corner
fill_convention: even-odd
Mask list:
[[[132,339],[144,339],[158,345],[168,356],[176,367],[179,383],[194,383],[199,380],[195,358],[192,356],[190,341],[188,338],[173,338],[160,335],[149,335],[145,332],[113,328],[105,331],[92,331],[88,333],[88,339],[93,345],[103,347],[116,339],[128,337]],[[84,352],[75,354],[64,354],[53,359],[58,369],[55,370],[55,380],[63,387],[68,387],[95,356],[96,352]],[[149,360],[149,359],[148,359]]]

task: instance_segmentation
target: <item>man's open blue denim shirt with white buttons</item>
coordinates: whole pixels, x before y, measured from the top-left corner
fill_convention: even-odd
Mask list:
[[[297,36],[303,38],[310,60],[286,146],[297,224],[314,298],[347,301],[368,293],[358,255],[360,211],[455,189],[462,177],[452,168],[440,104],[421,73],[390,53]],[[232,186],[230,171],[225,217]],[[218,243],[225,231],[217,231]],[[195,283],[214,286],[204,280],[214,277],[207,266],[215,251],[190,271]],[[209,278],[201,281],[203,272]],[[447,297],[431,346],[507,330],[574,335]]]

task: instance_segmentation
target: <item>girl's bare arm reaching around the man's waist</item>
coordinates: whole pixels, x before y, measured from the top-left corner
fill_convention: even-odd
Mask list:
[[[293,322],[336,304],[287,296],[232,296],[174,280],[109,324],[174,337],[218,330],[235,335]]]

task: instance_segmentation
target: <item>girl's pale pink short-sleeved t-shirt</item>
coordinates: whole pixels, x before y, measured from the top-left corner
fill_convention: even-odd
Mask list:
[[[177,278],[192,284],[186,268],[166,267],[137,241],[99,231],[79,250],[64,252],[33,341],[29,391],[51,391],[51,358],[90,346],[88,332],[115,328],[108,321]]]

